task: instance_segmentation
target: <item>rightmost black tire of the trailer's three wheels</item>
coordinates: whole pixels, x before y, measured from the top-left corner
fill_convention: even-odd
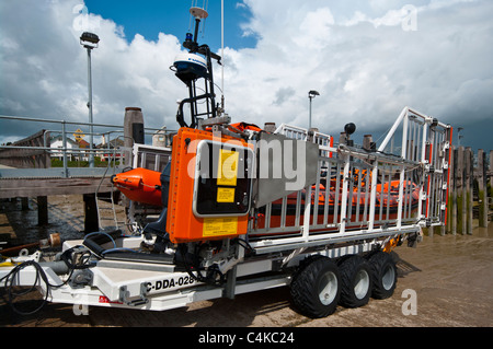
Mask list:
[[[374,279],[371,296],[377,300],[392,296],[398,280],[397,266],[392,256],[379,251],[369,256],[368,263],[371,267]]]

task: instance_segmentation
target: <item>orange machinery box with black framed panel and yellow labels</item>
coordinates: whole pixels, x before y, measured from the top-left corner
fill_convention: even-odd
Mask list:
[[[246,234],[252,148],[238,138],[180,129],[173,138],[168,200],[172,243]]]

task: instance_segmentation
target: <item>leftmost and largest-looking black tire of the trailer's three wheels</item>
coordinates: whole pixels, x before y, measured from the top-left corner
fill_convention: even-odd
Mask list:
[[[310,258],[293,276],[290,294],[301,314],[311,318],[331,315],[341,296],[337,266],[326,257]]]

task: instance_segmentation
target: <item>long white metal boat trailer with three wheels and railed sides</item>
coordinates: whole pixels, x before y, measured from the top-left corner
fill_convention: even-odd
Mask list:
[[[99,232],[66,241],[55,261],[42,252],[12,258],[0,267],[0,287],[36,286],[53,303],[149,311],[289,287],[310,317],[391,296],[397,267],[388,253],[446,222],[451,127],[405,107],[378,149],[334,147],[328,135],[287,125],[274,135],[317,146],[316,181],[249,206],[241,235],[149,254],[135,253],[152,244],[147,234]]]

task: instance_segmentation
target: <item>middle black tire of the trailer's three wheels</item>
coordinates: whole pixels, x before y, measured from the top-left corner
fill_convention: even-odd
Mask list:
[[[341,271],[341,305],[359,307],[371,296],[372,277],[368,261],[358,256],[349,256],[339,264]]]

